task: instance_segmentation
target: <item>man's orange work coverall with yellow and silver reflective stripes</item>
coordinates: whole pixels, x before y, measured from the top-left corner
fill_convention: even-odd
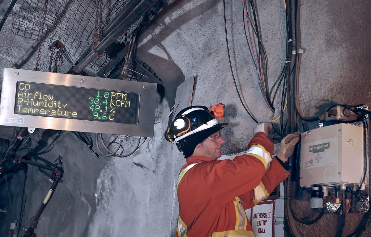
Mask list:
[[[272,141],[260,132],[249,150],[234,160],[188,157],[177,184],[176,236],[255,236],[244,210],[268,197],[289,176],[272,153]]]

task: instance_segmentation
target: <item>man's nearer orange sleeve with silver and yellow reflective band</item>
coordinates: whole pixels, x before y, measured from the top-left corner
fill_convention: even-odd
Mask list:
[[[272,141],[264,133],[257,133],[250,141],[247,153],[235,157],[234,160],[217,160],[203,167],[204,180],[209,188],[205,191],[208,191],[219,203],[225,203],[252,191],[259,186],[262,179],[263,183],[268,185],[270,178],[263,177],[269,170],[272,152]],[[198,166],[201,168],[203,164]],[[276,182],[273,183],[277,185]]]

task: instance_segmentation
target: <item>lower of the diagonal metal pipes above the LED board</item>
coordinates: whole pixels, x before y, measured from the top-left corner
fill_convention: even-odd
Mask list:
[[[97,46],[96,46],[96,53],[102,53],[110,44],[114,43],[115,40],[121,36],[122,33],[127,30],[131,24],[138,19],[138,17],[144,15],[152,7],[157,3],[158,0],[144,0],[141,4],[139,4],[121,23],[118,24]],[[75,73],[80,73],[82,70],[85,69],[86,66],[89,65],[95,58],[96,54],[92,51],[86,55],[79,64],[77,64],[73,71]]]

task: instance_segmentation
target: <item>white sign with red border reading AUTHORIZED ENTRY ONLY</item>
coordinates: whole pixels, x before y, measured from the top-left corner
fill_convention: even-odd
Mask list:
[[[274,237],[275,200],[262,201],[251,208],[250,223],[256,237]]]

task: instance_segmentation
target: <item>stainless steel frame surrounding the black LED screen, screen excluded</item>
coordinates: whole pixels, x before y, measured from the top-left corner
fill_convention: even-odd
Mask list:
[[[139,93],[138,124],[63,119],[14,113],[17,81]],[[155,83],[4,68],[0,125],[153,137]]]

